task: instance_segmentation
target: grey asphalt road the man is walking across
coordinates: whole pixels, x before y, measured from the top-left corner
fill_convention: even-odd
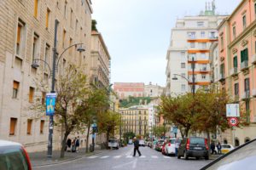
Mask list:
[[[110,150],[104,154],[80,158],[76,161],[69,161],[44,167],[34,167],[35,170],[56,170],[56,169],[84,169],[84,170],[198,170],[207,165],[211,160],[195,160],[193,158],[178,160],[175,156],[163,156],[160,152],[148,147],[140,147],[142,156],[133,157],[133,146],[128,145],[119,150]]]

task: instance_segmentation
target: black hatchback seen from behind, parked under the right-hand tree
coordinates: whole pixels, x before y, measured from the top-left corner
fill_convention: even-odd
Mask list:
[[[208,160],[208,150],[207,139],[201,137],[184,138],[177,150],[177,159],[183,156],[186,160],[189,159],[189,157],[195,157],[196,159],[204,157]]]

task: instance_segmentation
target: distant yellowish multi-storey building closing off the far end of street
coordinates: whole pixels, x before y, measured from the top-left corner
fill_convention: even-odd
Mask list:
[[[133,132],[136,135],[147,135],[148,132],[148,106],[137,105],[130,108],[120,108],[122,120],[122,135]]]

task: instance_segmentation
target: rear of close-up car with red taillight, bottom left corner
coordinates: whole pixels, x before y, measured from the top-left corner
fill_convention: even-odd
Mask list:
[[[21,144],[0,140],[0,169],[32,170],[29,156]]]

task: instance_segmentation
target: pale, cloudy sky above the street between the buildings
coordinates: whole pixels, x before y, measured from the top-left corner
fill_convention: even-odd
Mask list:
[[[210,0],[92,0],[92,19],[111,56],[111,83],[166,86],[166,53],[177,18],[197,15]],[[241,0],[216,0],[231,14]]]

